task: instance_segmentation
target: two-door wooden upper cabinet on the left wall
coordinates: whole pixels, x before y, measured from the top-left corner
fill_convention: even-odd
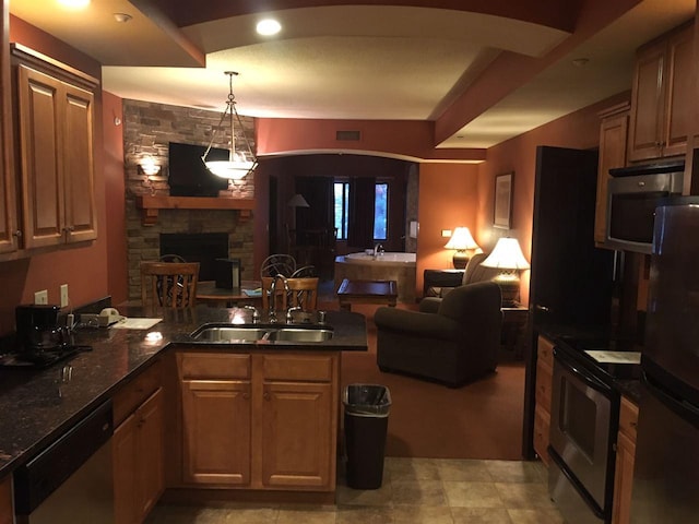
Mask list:
[[[21,46],[15,45],[13,53],[23,247],[94,240],[96,80],[44,62],[50,59]]]

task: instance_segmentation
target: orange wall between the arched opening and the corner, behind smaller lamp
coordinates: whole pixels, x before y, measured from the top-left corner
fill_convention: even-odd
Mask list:
[[[477,224],[478,166],[475,164],[420,164],[419,233],[417,235],[417,296],[423,295],[424,270],[453,269],[453,251],[442,229]],[[477,239],[476,239],[477,241]]]

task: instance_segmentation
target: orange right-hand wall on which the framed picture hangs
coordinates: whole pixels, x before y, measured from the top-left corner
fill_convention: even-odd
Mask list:
[[[490,251],[501,236],[514,237],[520,240],[526,260],[531,260],[536,146],[580,150],[597,147],[599,112],[629,99],[629,93],[621,93],[489,148],[488,159],[481,164],[478,171],[478,212],[474,233],[476,242],[485,251]],[[493,227],[495,176],[503,172],[514,172],[510,230]],[[529,271],[522,274],[520,298],[522,303],[529,303]]]

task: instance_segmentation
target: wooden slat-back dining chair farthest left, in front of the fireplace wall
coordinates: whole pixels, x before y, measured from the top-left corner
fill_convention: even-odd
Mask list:
[[[199,262],[141,262],[143,306],[185,309],[197,301]]]

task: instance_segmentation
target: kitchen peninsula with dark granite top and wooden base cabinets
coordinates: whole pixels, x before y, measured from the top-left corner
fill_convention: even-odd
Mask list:
[[[367,350],[365,318],[328,311],[322,327],[332,337],[319,343],[222,344],[190,334],[249,321],[249,310],[199,306],[156,315],[163,321],[151,330],[79,330],[75,342],[92,350],[50,368],[0,371],[0,409],[12,414],[0,421],[0,478],[110,401],[115,496],[137,500],[115,503],[117,523],[142,521],[164,490],[180,501],[332,503],[341,354]],[[262,314],[259,325],[265,322]],[[138,485],[134,467],[150,468],[141,477],[150,491],[128,492]]]

